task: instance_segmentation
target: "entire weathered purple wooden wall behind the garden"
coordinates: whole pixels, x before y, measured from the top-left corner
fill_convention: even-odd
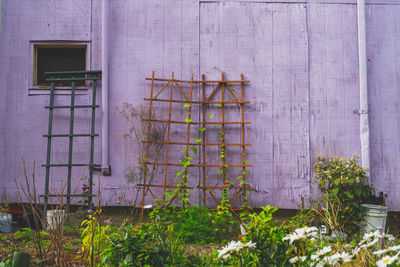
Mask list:
[[[136,147],[121,136],[127,124],[118,112],[122,102],[135,106],[148,95],[145,77],[195,79],[205,74],[251,80],[245,117],[250,204],[296,208],[316,194],[312,164],[318,154],[350,157],[360,153],[357,9],[355,0],[308,1],[128,1],[110,3],[110,164],[102,177],[104,205],[130,205],[135,186],[125,170],[135,162]],[[371,178],[388,194],[392,210],[400,194],[399,80],[400,4],[367,2],[368,74],[371,110]],[[22,180],[21,157],[31,167],[45,161],[48,96],[32,94],[32,41],[86,41],[89,67],[101,67],[101,5],[95,0],[3,1],[0,41],[0,200],[16,200],[14,179]],[[37,94],[37,93],[36,93]],[[59,103],[68,97],[59,96]],[[79,97],[82,103],[90,95]],[[101,95],[99,95],[101,99]],[[77,127],[86,131],[88,114]],[[56,129],[66,129],[58,114]],[[100,113],[98,114],[100,117]],[[100,126],[101,120],[97,121]],[[64,130],[65,130],[64,129]],[[100,127],[98,127],[98,131]],[[96,141],[100,161],[100,138]],[[76,159],[83,160],[88,142]],[[65,144],[54,154],[62,161]],[[82,170],[75,174],[75,184]],[[37,168],[43,190],[45,171]],[[56,175],[59,187],[65,174]],[[96,176],[97,177],[97,176]],[[197,179],[197,178],[196,178]],[[97,181],[97,178],[95,179]],[[97,184],[97,182],[96,182]],[[79,188],[78,188],[79,190]],[[197,201],[198,192],[193,192]]]

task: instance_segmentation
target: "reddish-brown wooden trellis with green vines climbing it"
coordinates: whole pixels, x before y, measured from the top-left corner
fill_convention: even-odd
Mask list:
[[[251,189],[250,186],[247,185],[246,183],[246,168],[252,167],[252,165],[247,164],[246,161],[246,146],[251,146],[251,144],[246,143],[246,138],[245,138],[245,126],[247,124],[250,124],[251,122],[245,121],[244,118],[244,106],[245,104],[250,103],[250,101],[245,101],[244,100],[244,86],[246,83],[249,83],[250,81],[244,80],[243,79],[243,74],[240,76],[240,80],[233,80],[233,81],[228,81],[225,80],[224,74],[222,74],[221,80],[212,80],[212,81],[206,81],[205,76],[202,75],[202,80],[201,81],[195,81],[193,80],[193,74],[191,75],[190,80],[177,80],[174,78],[174,73],[172,73],[171,79],[160,79],[160,78],[155,78],[155,72],[153,71],[152,77],[151,78],[146,78],[146,80],[151,81],[151,87],[150,87],[150,98],[144,98],[145,101],[149,102],[149,112],[148,112],[148,118],[145,118],[144,120],[147,121],[147,135],[146,139],[143,140],[142,142],[145,143],[145,156],[144,156],[144,177],[143,177],[143,182],[141,184],[138,184],[138,186],[142,187],[142,201],[141,201],[141,206],[140,208],[142,209],[142,217],[143,217],[143,207],[145,205],[145,196],[147,192],[150,193],[150,195],[153,197],[155,200],[157,197],[154,194],[152,188],[162,188],[163,190],[163,196],[159,197],[157,199],[163,199],[165,200],[165,193],[167,189],[176,189],[178,188],[177,185],[171,185],[170,180],[168,177],[168,167],[170,166],[179,166],[182,167],[181,163],[179,162],[170,162],[170,147],[172,145],[177,145],[177,146],[184,146],[186,149],[186,153],[189,150],[189,146],[197,146],[199,147],[198,151],[201,151],[200,159],[199,162],[200,164],[190,164],[189,167],[197,167],[202,170],[202,185],[198,185],[197,188],[203,190],[203,204],[206,205],[206,194],[207,192],[211,195],[212,199],[214,199],[217,204],[219,204],[219,200],[215,196],[215,194],[212,192],[211,189],[234,189],[236,190],[235,195],[233,195],[233,198],[231,199],[231,204],[233,204],[239,197],[239,195],[243,195],[244,199],[246,199],[246,190]],[[155,93],[156,89],[156,83],[161,89],[159,89]],[[161,85],[160,85],[161,84]],[[189,85],[190,86],[190,93],[185,94],[183,90],[183,85]],[[235,90],[232,86],[232,84],[240,85],[240,96],[238,96],[235,93]],[[199,86],[200,85],[200,86]],[[206,96],[206,87],[209,85],[215,85],[212,88],[214,88],[208,96]],[[163,91],[166,90],[166,88],[170,88],[169,92],[169,98],[168,99],[162,99],[158,98]],[[193,99],[193,92],[194,90],[201,88],[201,98],[196,98]],[[179,90],[180,92],[180,97],[182,99],[178,99],[177,97],[174,97],[174,89],[175,91]],[[217,92],[221,92],[221,100],[218,101],[212,101],[212,98],[217,94]],[[230,92],[232,95],[230,97],[230,100],[226,100],[225,97],[225,92]],[[200,93],[200,92],[198,92]],[[154,102],[161,102],[161,103],[168,103],[168,119],[158,119],[155,118],[155,112],[154,112]],[[180,103],[182,106],[184,104],[189,104],[187,105],[189,112],[188,114],[188,120],[172,120],[172,113],[174,111],[173,105],[176,103]],[[221,107],[221,112],[222,112],[222,119],[220,121],[206,121],[206,110],[211,104],[216,104]],[[240,106],[240,121],[226,121],[226,105],[238,105]],[[192,120],[192,112],[194,111],[194,107],[198,108],[198,111],[201,114],[201,119],[200,121],[194,121]],[[151,125],[152,123],[166,123],[167,124],[167,136],[166,140],[160,141],[160,140],[150,140],[150,132],[151,132]],[[186,142],[173,142],[171,141],[171,132],[173,130],[173,127],[178,124],[184,124],[187,125],[187,138]],[[222,131],[222,137],[220,138],[219,142],[207,142],[207,131],[202,131],[201,132],[201,142],[191,142],[190,141],[190,131],[191,127],[193,125],[201,126],[203,129],[206,127],[206,125],[218,125],[217,127],[221,127]],[[227,140],[225,140],[225,131],[227,125],[238,125],[240,127],[240,142],[238,143],[229,143]],[[163,144],[164,145],[164,150],[165,150],[165,157],[163,162],[154,162],[149,160],[149,145],[150,144]],[[207,147],[209,146],[217,146],[219,149],[224,149],[225,147],[228,146],[239,146],[241,147],[241,162],[239,164],[229,164],[227,165],[226,158],[222,157],[221,162],[219,163],[209,163],[206,159],[206,151]],[[163,180],[161,183],[152,183],[151,181],[147,180],[147,170],[148,170],[148,165],[159,165],[163,166]],[[224,186],[211,186],[207,184],[207,168],[221,168],[221,166],[224,166],[222,168],[222,179],[224,182]],[[240,168],[241,173],[242,173],[242,179],[243,183],[240,185],[229,185],[226,186],[226,179],[227,179],[227,174],[226,174],[226,167],[235,167],[235,168]],[[175,177],[174,177],[175,178]],[[185,187],[179,188],[179,190],[184,189]],[[193,189],[193,187],[186,187],[189,189]],[[175,194],[170,200],[168,206],[174,201],[174,199],[178,195]]]

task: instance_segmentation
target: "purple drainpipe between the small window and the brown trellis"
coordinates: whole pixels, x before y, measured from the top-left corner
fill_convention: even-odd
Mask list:
[[[102,0],[101,7],[101,173],[111,175],[108,162],[108,31],[109,2]]]

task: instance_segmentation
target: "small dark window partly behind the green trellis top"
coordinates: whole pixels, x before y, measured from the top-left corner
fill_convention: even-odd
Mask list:
[[[50,84],[46,81],[49,77],[44,75],[45,72],[86,70],[86,45],[35,45],[34,47],[33,85],[48,86]],[[65,85],[70,85],[70,83],[65,83]],[[85,82],[76,82],[76,85],[85,85]]]

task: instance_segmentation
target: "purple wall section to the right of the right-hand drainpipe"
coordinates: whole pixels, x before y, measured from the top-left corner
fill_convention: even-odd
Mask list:
[[[387,205],[400,209],[399,7],[367,7],[371,182]]]

